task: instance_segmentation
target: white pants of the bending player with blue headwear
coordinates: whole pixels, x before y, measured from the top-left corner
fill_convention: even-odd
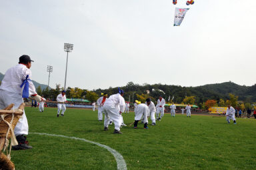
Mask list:
[[[119,114],[119,111],[113,106],[104,105],[103,111],[105,113],[105,120],[104,120],[104,126],[109,126],[109,121],[112,119],[113,123],[115,124],[115,129],[117,131],[120,131],[121,127],[121,115]]]

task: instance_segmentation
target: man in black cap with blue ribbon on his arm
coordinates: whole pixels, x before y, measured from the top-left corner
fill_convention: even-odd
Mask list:
[[[31,95],[35,101],[41,101],[41,96],[37,95],[35,86],[31,81],[31,62],[33,62],[28,55],[19,57],[19,64],[8,69],[3,77],[0,86],[0,109],[4,109],[11,103],[14,103],[14,109],[17,109],[23,98],[28,98]],[[13,149],[31,149],[26,140],[29,133],[29,125],[25,111],[19,119],[14,133],[19,145],[13,146]]]

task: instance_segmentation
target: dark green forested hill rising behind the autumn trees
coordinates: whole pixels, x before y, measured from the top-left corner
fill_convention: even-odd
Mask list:
[[[125,100],[129,100],[130,97],[130,101],[132,101],[132,97],[134,100],[137,99],[136,95],[134,94],[145,94],[147,90],[149,91],[149,95],[155,99],[157,99],[159,95],[162,95],[165,99],[168,99],[169,96],[174,96],[174,101],[177,103],[181,103],[186,95],[195,96],[196,103],[203,103],[204,101],[207,101],[207,99],[215,99],[218,102],[219,99],[229,99],[229,93],[239,96],[239,101],[250,103],[256,101],[256,85],[248,87],[244,85],[237,85],[231,81],[225,83],[202,85],[198,87],[181,87],[177,85],[161,84],[137,85],[133,82],[129,82],[126,86],[121,88],[123,88],[125,91]],[[164,93],[159,90],[163,91]],[[95,90],[98,95],[100,95],[102,91],[111,95],[117,91],[117,87]]]

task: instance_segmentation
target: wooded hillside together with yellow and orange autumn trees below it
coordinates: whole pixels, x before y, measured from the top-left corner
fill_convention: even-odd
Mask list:
[[[243,87],[242,87],[243,88]],[[89,101],[97,101],[101,96],[101,93],[107,93],[108,95],[113,95],[117,93],[118,87],[109,87],[108,89],[95,89],[89,91],[87,89],[80,89],[78,87],[66,89],[67,98],[74,99],[87,99]],[[161,95],[165,101],[169,103],[184,103],[197,105],[201,109],[209,109],[209,107],[219,106],[224,107],[230,103],[233,107],[239,109],[252,108],[255,104],[251,98],[235,95],[230,92],[235,92],[239,90],[235,83],[221,83],[216,85],[205,85],[202,87],[181,87],[177,85],[162,85],[155,84],[149,85],[144,83],[143,85],[135,84],[133,82],[127,83],[124,87],[121,87],[125,91],[124,98],[125,101],[130,101],[133,103],[135,100],[145,102],[147,98],[156,103],[159,95]],[[63,90],[61,85],[56,85],[55,89],[44,89],[37,87],[37,93],[43,95],[45,98],[55,100],[57,95]],[[241,100],[244,99],[245,101]]]

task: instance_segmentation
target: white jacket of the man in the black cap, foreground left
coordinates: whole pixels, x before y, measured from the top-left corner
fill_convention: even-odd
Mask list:
[[[22,95],[24,86],[22,88],[20,86],[27,75],[29,75],[29,79],[31,79],[31,71],[25,65],[18,64],[11,67],[6,71],[5,77],[3,77],[3,80],[1,81],[0,89]],[[37,94],[35,86],[32,81],[29,81],[29,95],[35,94]]]

